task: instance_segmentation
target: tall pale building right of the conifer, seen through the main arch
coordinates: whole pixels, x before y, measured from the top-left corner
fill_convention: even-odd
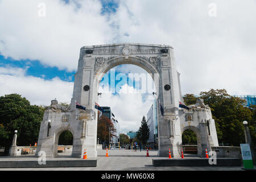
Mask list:
[[[147,112],[147,126],[150,130],[149,138],[147,140],[148,147],[158,148],[158,119],[156,115],[156,100]]]

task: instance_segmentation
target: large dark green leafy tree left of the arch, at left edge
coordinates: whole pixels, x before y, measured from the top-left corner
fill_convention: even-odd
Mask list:
[[[14,130],[18,130],[17,145],[28,146],[37,142],[43,113],[43,107],[30,105],[19,94],[0,97],[0,146],[5,147],[4,155],[9,154]]]

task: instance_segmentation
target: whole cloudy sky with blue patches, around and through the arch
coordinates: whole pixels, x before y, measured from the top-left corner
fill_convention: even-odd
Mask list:
[[[183,94],[256,95],[255,10],[255,0],[0,0],[0,96],[70,102],[80,48],[110,43],[174,47]],[[99,102],[125,132],[138,130],[151,106],[141,94],[105,94]]]

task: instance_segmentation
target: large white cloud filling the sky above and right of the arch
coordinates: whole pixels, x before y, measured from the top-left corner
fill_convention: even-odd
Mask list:
[[[256,94],[256,2],[122,0],[112,20],[119,42],[174,47],[181,92],[225,88]],[[127,36],[129,34],[129,36]]]

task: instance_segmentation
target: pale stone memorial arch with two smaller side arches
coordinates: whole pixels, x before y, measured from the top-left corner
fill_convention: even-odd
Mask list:
[[[184,129],[196,131],[200,155],[205,148],[210,151],[211,146],[218,146],[214,120],[209,107],[202,100],[189,110],[179,108],[179,101],[183,101],[180,74],[176,70],[174,49],[171,46],[106,44],[80,49],[71,104],[64,107],[52,100],[41,122],[36,156],[39,156],[39,151],[46,152],[47,157],[57,156],[59,135],[65,130],[71,131],[73,135],[73,157],[82,158],[85,148],[88,157],[97,156],[97,110],[94,106],[98,101],[98,88],[104,74],[120,64],[142,67],[152,75],[155,82],[158,156],[168,156],[171,148],[172,156],[180,157]],[[86,109],[76,109],[76,102]]]

